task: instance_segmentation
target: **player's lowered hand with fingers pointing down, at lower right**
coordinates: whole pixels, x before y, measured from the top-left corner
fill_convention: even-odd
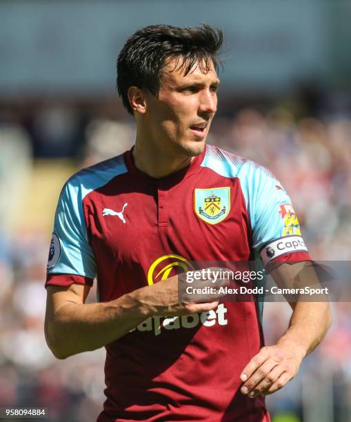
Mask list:
[[[303,356],[291,343],[261,348],[241,372],[241,392],[253,399],[280,390],[297,374]]]

